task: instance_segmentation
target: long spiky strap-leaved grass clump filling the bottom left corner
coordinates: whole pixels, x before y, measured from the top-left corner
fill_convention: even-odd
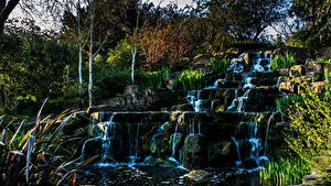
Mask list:
[[[32,127],[26,127],[18,118],[0,116],[0,185],[71,183],[81,166],[97,158],[84,162],[75,158],[83,139],[62,135],[73,116],[70,110],[54,119],[51,116],[42,118],[41,111]]]

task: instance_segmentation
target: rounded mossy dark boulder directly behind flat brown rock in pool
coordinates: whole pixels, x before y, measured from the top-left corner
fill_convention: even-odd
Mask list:
[[[206,166],[205,138],[202,134],[186,135],[181,149],[181,162],[186,168]]]

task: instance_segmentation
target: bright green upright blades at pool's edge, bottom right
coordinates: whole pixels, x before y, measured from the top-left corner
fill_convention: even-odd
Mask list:
[[[285,186],[301,184],[302,177],[309,174],[311,167],[302,160],[279,160],[269,162],[259,173],[260,182],[271,182],[274,185]]]

